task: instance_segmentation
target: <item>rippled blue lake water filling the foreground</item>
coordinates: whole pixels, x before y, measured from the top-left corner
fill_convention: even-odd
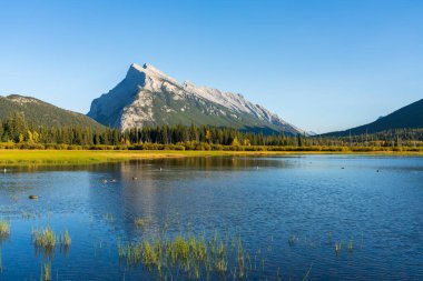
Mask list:
[[[0,215],[10,223],[1,280],[40,280],[46,264],[51,280],[423,280],[417,157],[11,167],[0,174]],[[33,242],[46,227],[57,235],[50,251]],[[159,272],[157,260],[119,251],[178,237],[204,241],[207,257],[212,241],[223,244],[225,269],[216,270],[214,253],[188,265],[176,258]]]

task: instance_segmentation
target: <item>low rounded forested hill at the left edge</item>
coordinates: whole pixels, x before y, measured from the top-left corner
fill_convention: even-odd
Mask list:
[[[9,118],[14,112],[21,112],[28,122],[36,126],[79,126],[95,130],[104,129],[104,126],[85,114],[65,110],[35,98],[19,94],[0,96],[0,120]]]

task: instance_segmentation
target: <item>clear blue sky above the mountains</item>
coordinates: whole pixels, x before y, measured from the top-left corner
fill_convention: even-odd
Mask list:
[[[0,94],[79,112],[149,62],[306,130],[423,98],[421,0],[0,0]]]

